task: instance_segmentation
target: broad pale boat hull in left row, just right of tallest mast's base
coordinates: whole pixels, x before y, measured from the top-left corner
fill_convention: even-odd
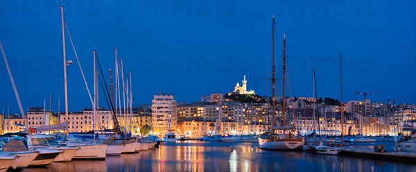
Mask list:
[[[79,147],[80,150],[76,151],[72,160],[105,160],[107,153],[106,144],[92,144]]]

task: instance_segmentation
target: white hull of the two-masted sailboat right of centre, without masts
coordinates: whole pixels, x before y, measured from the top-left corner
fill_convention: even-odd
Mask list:
[[[304,141],[302,139],[279,139],[271,141],[259,138],[259,147],[270,150],[302,150]]]

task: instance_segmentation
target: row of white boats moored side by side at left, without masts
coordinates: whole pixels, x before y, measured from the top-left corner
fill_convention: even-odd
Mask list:
[[[25,139],[27,139],[27,144],[24,144]],[[0,149],[0,170],[42,166],[51,162],[71,160],[105,160],[106,156],[138,153],[139,150],[154,148],[157,144],[157,141],[136,137],[103,143],[94,141],[58,143],[53,135],[40,134],[27,135],[25,139],[16,136],[6,139],[8,143]]]

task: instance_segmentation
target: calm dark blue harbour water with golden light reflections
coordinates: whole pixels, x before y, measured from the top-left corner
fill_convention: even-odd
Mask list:
[[[105,161],[52,163],[24,171],[415,171],[416,164],[261,150],[257,143],[183,141]]]

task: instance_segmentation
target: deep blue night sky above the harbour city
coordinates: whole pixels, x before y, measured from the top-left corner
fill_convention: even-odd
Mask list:
[[[164,4],[166,3],[166,4]],[[0,40],[24,110],[64,110],[60,1],[0,1]],[[208,7],[208,8],[207,8]],[[69,10],[70,8],[70,10]],[[339,51],[344,101],[416,99],[415,1],[67,1],[66,22],[92,89],[92,50],[105,78],[114,69],[114,47],[132,71],[135,105],[153,94],[193,102],[201,95],[232,92],[247,76],[248,89],[270,95],[272,15],[276,19],[277,78],[286,33],[286,96],[340,98]],[[69,110],[91,107],[67,35]],[[0,62],[0,113],[19,112]],[[281,95],[281,80],[277,80]],[[100,87],[101,91],[102,88]],[[398,102],[402,103],[402,102]],[[408,102],[409,103],[409,102]],[[415,102],[410,102],[415,103]],[[107,107],[103,92],[100,105]],[[46,105],[49,107],[49,105]]]

